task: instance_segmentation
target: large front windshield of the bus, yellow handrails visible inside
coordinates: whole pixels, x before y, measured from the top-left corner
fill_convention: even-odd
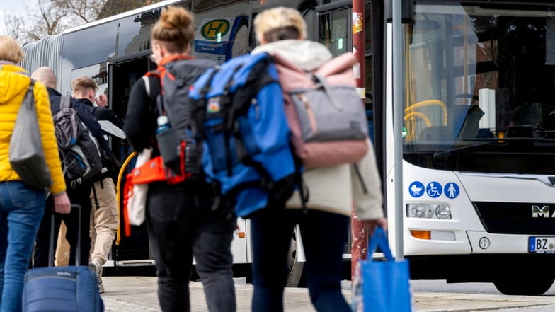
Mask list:
[[[554,172],[555,6],[417,1],[404,57],[406,161]]]

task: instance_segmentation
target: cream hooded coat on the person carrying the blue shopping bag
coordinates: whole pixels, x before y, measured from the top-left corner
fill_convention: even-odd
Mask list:
[[[252,53],[260,52],[278,53],[307,71],[318,68],[332,57],[324,45],[309,40],[273,42],[256,47]],[[357,163],[357,166],[365,183],[366,193],[363,192],[362,181],[350,164],[305,171],[302,178],[309,190],[307,208],[350,216],[354,203],[358,219],[379,219],[384,216],[382,183],[372,144],[365,158]],[[301,207],[299,192],[296,191],[287,202],[287,208]]]

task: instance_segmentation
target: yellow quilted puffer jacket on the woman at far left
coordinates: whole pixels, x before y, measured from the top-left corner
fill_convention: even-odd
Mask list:
[[[21,180],[11,168],[8,154],[13,126],[30,83],[27,75],[18,74],[21,71],[25,70],[16,65],[2,65],[0,69],[0,181]],[[50,100],[46,87],[40,82],[35,83],[33,94],[42,134],[42,148],[45,150],[46,162],[52,176],[50,192],[56,195],[66,190],[66,184],[59,161]]]

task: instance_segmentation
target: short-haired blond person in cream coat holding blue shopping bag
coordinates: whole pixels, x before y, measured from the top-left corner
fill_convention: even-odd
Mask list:
[[[280,54],[307,71],[331,59],[328,49],[307,40],[307,25],[299,11],[270,8],[254,19],[256,39],[261,43],[253,54]],[[309,202],[301,208],[298,192],[286,209],[261,209],[250,216],[253,245],[253,311],[283,311],[283,287],[287,275],[287,250],[295,224],[299,224],[304,270],[309,294],[316,311],[350,312],[341,294],[343,248],[348,241],[351,207],[370,230],[385,227],[382,190],[374,151],[357,163],[368,192],[349,164],[311,169],[303,173]]]

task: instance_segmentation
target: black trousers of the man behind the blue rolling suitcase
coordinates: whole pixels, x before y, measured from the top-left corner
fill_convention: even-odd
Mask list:
[[[75,265],[76,248],[77,248],[77,233],[79,231],[79,224],[81,224],[81,245],[80,245],[80,261],[79,265],[88,265],[88,256],[91,249],[91,236],[89,234],[89,226],[91,222],[91,187],[90,181],[82,181],[75,187],[71,187],[71,183],[66,181],[67,195],[71,204],[81,205],[81,220],[79,220],[79,212],[72,209],[70,214],[56,214],[54,213],[54,199],[52,195],[46,200],[45,214],[42,216],[40,227],[35,241],[35,256],[34,267],[47,267],[48,266],[48,250],[50,246],[50,226],[52,213],[55,214],[54,222],[54,248],[57,245],[57,238],[59,226],[64,221],[66,225],[66,239],[69,243],[69,265]],[[53,253],[55,250],[53,250]],[[53,259],[52,259],[53,260]],[[52,263],[52,265],[54,265]]]

